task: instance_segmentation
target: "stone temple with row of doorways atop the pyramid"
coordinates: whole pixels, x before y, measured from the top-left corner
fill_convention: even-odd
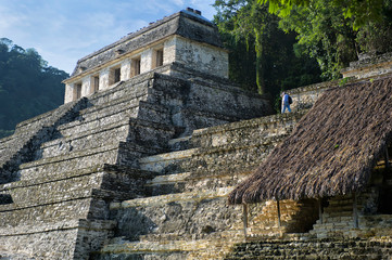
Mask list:
[[[228,78],[228,52],[217,27],[188,8],[80,58],[64,80],[64,103],[148,72],[189,79],[195,73]]]

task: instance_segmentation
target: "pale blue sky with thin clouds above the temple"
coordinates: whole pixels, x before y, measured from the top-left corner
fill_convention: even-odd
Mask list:
[[[187,6],[212,20],[215,0],[0,0],[0,38],[72,73],[77,60]]]

